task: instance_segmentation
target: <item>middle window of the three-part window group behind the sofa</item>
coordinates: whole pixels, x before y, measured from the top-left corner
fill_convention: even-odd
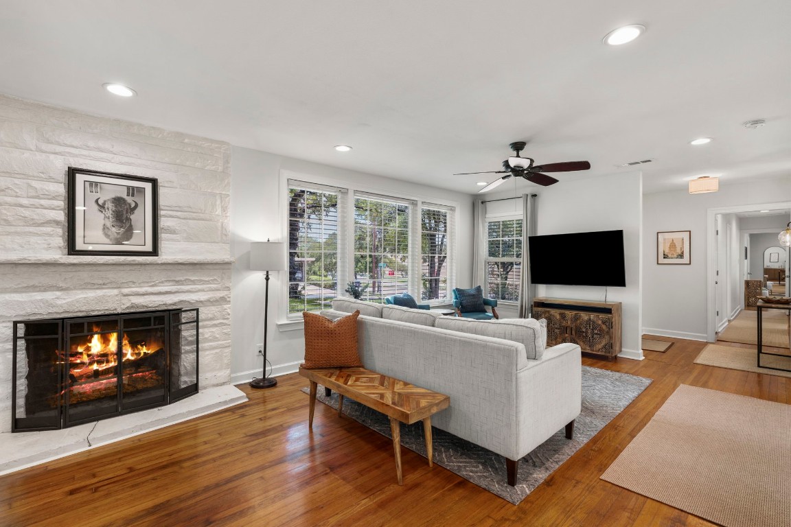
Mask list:
[[[367,284],[366,300],[409,291],[410,204],[354,198],[354,278]]]

